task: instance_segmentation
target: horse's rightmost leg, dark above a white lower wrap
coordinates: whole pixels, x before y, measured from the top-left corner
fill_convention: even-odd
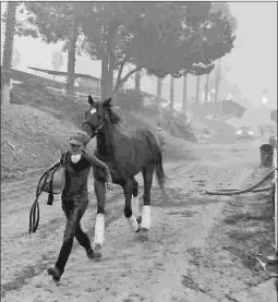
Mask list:
[[[142,213],[142,224],[141,229],[143,231],[148,231],[150,228],[150,188],[153,183],[155,166],[148,166],[143,168],[143,179],[144,179],[144,206]]]

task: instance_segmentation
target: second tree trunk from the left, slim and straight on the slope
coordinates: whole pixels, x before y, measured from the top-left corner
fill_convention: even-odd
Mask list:
[[[77,40],[77,21],[72,21],[72,27],[68,40],[68,80],[65,84],[67,94],[74,96],[74,73],[75,73],[75,47]]]

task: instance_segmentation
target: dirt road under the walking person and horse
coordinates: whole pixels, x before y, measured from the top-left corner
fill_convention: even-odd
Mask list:
[[[2,189],[1,300],[232,301],[230,293],[246,287],[247,273],[241,273],[242,280],[239,279],[242,267],[233,266],[235,259],[228,251],[217,250],[221,238],[217,238],[216,231],[221,212],[231,198],[209,197],[203,191],[242,186],[257,166],[258,154],[252,145],[220,147],[200,146],[196,160],[165,165],[169,177],[167,186],[174,203],[166,201],[156,185],[153,188],[153,226],[147,235],[134,234],[129,229],[121,190],[109,192],[101,261],[88,261],[84,250],[74,242],[59,286],[46,273],[56,262],[64,228],[59,197],[53,206],[46,205],[46,196],[40,198],[39,229],[28,235],[28,212],[37,180],[5,184]],[[141,177],[137,179],[142,183]],[[90,188],[92,203],[83,228],[93,238],[96,205],[92,180]],[[225,262],[223,268],[217,265],[219,261]]]

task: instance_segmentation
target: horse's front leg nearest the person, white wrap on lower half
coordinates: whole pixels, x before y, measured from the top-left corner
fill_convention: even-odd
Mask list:
[[[102,247],[104,240],[105,240],[106,186],[104,181],[96,180],[96,179],[94,181],[94,186],[95,186],[95,193],[97,197],[97,217],[96,217],[93,250],[97,252]]]

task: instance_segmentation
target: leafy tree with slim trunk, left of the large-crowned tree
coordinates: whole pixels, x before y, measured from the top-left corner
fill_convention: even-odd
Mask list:
[[[74,93],[75,50],[80,35],[80,15],[76,2],[25,2],[27,23],[17,25],[17,34],[40,37],[47,44],[64,41],[68,51],[67,93]]]

